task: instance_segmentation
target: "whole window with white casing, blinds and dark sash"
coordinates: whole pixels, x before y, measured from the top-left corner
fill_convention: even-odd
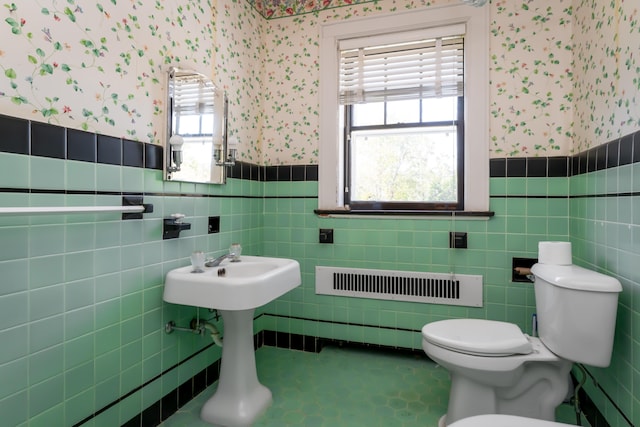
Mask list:
[[[450,6],[322,28],[320,210],[488,210],[486,22]]]

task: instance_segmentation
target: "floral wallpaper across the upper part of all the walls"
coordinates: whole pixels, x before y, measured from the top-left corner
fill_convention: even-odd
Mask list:
[[[458,0],[34,3],[0,9],[0,113],[162,143],[164,70],[179,63],[226,89],[241,159],[278,165],[317,163],[322,23]],[[484,6],[492,157],[568,155],[640,128],[632,3]]]

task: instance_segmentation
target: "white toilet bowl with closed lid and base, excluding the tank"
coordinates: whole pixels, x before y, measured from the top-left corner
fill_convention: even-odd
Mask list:
[[[452,319],[422,328],[422,348],[451,376],[440,427],[478,414],[517,414],[553,421],[567,396],[572,362],[514,324]],[[446,344],[445,344],[446,343]]]

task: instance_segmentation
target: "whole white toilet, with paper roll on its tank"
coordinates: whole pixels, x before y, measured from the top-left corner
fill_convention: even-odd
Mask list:
[[[439,427],[458,427],[457,421],[484,414],[554,421],[568,395],[573,363],[609,365],[620,282],[572,265],[568,242],[540,242],[531,272],[538,337],[485,319],[441,320],[422,328],[425,353],[451,376]]]

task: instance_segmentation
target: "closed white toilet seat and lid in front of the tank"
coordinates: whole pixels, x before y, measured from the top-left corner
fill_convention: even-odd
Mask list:
[[[473,356],[529,354],[533,346],[513,323],[485,319],[448,319],[427,323],[423,338],[439,347]]]

